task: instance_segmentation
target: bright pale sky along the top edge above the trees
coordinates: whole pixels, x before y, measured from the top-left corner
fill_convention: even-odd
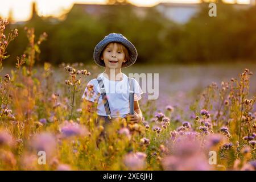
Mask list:
[[[74,3],[105,3],[105,0],[0,0],[0,16],[7,18],[10,10],[15,21],[30,18],[31,4],[37,3],[40,16],[59,16],[69,11]],[[154,6],[160,2],[198,3],[200,0],[129,0],[137,6]],[[235,0],[226,0],[233,3]],[[250,0],[237,0],[237,3],[250,3]]]

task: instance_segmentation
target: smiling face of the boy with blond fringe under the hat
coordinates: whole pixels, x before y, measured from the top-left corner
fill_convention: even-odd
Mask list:
[[[125,63],[125,53],[118,43],[110,43],[102,52],[101,60],[104,60],[106,68],[121,68],[122,63]]]

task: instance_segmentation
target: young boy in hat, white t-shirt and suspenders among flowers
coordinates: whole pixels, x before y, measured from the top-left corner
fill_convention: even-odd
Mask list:
[[[134,64],[137,50],[122,34],[109,34],[94,48],[93,58],[105,71],[90,80],[82,98],[92,110],[97,102],[97,122],[102,119],[111,122],[114,118],[129,118],[131,122],[141,122],[139,108],[142,90],[134,78],[128,78],[121,72]]]

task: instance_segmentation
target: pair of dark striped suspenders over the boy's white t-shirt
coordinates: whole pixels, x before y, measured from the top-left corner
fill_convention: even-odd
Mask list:
[[[108,118],[111,119],[111,111],[109,107],[108,98],[106,97],[106,90],[101,77],[97,78],[98,85],[100,85],[101,97],[105,107]],[[130,102],[130,114],[134,114],[134,82],[133,78],[128,78],[129,82],[129,102]]]

